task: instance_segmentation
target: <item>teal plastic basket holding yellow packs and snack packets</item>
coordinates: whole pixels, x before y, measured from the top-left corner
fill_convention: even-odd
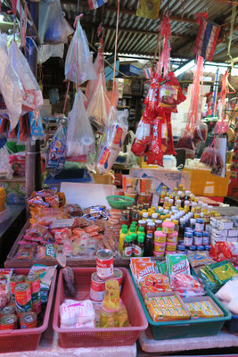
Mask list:
[[[224,316],[216,319],[198,319],[198,320],[180,320],[180,321],[163,321],[154,322],[149,312],[147,311],[142,295],[135,285],[135,280],[132,277],[135,289],[139,296],[140,302],[144,309],[146,319],[152,330],[152,336],[155,340],[187,338],[187,337],[201,337],[201,336],[214,336],[223,327],[226,320],[230,320],[232,315],[226,308],[219,302],[217,297],[208,291],[207,296],[217,304]]]

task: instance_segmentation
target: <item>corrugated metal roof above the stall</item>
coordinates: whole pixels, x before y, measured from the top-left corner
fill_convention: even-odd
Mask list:
[[[80,1],[80,12],[84,13],[82,26],[86,30],[89,43],[94,45],[96,29],[103,22],[104,50],[113,53],[115,46],[115,28],[117,2],[109,0],[103,7],[90,11],[86,0]],[[119,54],[152,55],[155,50],[160,19],[154,21],[135,15],[138,0],[120,0],[119,13]],[[62,0],[66,17],[73,22],[77,12],[77,0]],[[171,56],[174,58],[193,58],[193,47],[198,31],[194,14],[209,12],[209,21],[215,21],[221,28],[220,36],[225,42],[220,42],[213,61],[224,62],[227,60],[227,44],[229,21],[231,19],[232,5],[223,4],[216,0],[165,0],[161,1],[160,14],[169,11],[170,26],[172,31]],[[184,18],[181,23],[174,17]],[[226,25],[224,25],[226,24]],[[234,32],[232,54],[238,56],[238,31]]]

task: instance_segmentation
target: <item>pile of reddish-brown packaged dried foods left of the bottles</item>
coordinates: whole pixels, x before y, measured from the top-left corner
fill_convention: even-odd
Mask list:
[[[82,211],[76,204],[63,207],[64,203],[64,195],[56,189],[38,191],[29,198],[30,226],[18,242],[15,258],[92,258],[100,248],[111,249],[117,256],[119,230],[105,207]],[[106,226],[104,220],[108,220]],[[116,237],[115,233],[111,237],[113,227]]]

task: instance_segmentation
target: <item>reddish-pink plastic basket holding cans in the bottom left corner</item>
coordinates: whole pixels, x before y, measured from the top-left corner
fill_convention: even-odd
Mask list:
[[[29,269],[14,268],[15,273],[28,275]],[[56,271],[48,295],[48,302],[45,309],[45,316],[42,326],[39,328],[12,329],[0,331],[0,353],[13,353],[21,351],[37,350],[41,334],[48,328],[50,311],[53,301],[53,290],[55,286]]]

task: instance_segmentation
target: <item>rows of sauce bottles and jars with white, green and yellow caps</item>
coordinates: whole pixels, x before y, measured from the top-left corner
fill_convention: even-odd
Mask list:
[[[124,179],[124,187],[135,191],[137,182],[137,178]],[[140,182],[141,189],[151,185],[148,179]],[[157,208],[150,203],[138,203],[121,212],[120,254],[163,257],[168,253],[209,251],[209,222],[218,216],[183,185],[169,193],[167,187],[162,187]]]

